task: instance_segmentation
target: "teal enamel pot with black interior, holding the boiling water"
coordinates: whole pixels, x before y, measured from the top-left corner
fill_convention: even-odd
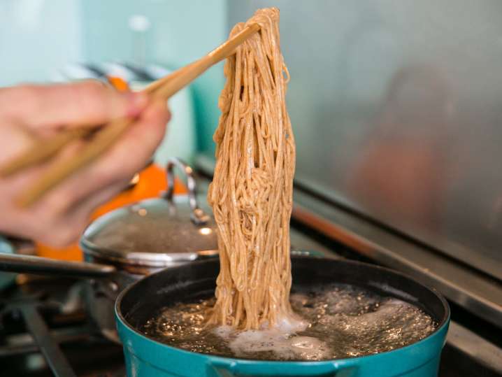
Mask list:
[[[115,303],[117,329],[129,377],[431,377],[437,376],[450,308],[436,290],[408,276],[371,264],[312,257],[293,257],[294,287],[345,283],[408,301],[431,315],[438,327],[426,338],[392,351],[322,362],[244,360],[192,353],[159,343],[138,328],[160,308],[178,301],[208,297],[215,289],[217,260],[166,269],[134,283]]]

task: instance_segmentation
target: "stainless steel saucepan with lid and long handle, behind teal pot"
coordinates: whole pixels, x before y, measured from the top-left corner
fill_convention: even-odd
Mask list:
[[[187,178],[187,195],[174,195],[174,167]],[[92,222],[80,239],[85,262],[1,255],[0,271],[88,278],[85,301],[103,335],[119,341],[113,304],[129,284],[161,269],[217,257],[215,222],[199,206],[192,168],[171,158],[168,190],[159,198],[118,208]]]

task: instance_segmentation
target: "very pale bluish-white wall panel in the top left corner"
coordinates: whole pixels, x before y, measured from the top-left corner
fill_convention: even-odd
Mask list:
[[[83,58],[78,0],[0,1],[0,86],[43,82]]]

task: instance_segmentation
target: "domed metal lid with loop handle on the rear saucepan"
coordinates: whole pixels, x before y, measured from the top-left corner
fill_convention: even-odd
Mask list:
[[[174,196],[173,167],[187,176],[188,194]],[[141,266],[172,266],[217,255],[215,221],[199,207],[192,168],[179,159],[167,164],[168,191],[94,221],[80,245],[85,254]]]

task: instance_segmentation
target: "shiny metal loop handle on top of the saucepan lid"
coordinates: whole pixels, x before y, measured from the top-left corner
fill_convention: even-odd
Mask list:
[[[173,204],[174,196],[174,167],[178,167],[185,176],[187,177],[187,187],[188,187],[188,203],[190,205],[190,220],[196,225],[206,224],[210,220],[210,217],[199,208],[196,198],[196,182],[194,178],[194,170],[185,162],[182,162],[178,157],[171,157],[167,160],[166,172],[167,172],[167,192],[165,198],[170,204]]]

